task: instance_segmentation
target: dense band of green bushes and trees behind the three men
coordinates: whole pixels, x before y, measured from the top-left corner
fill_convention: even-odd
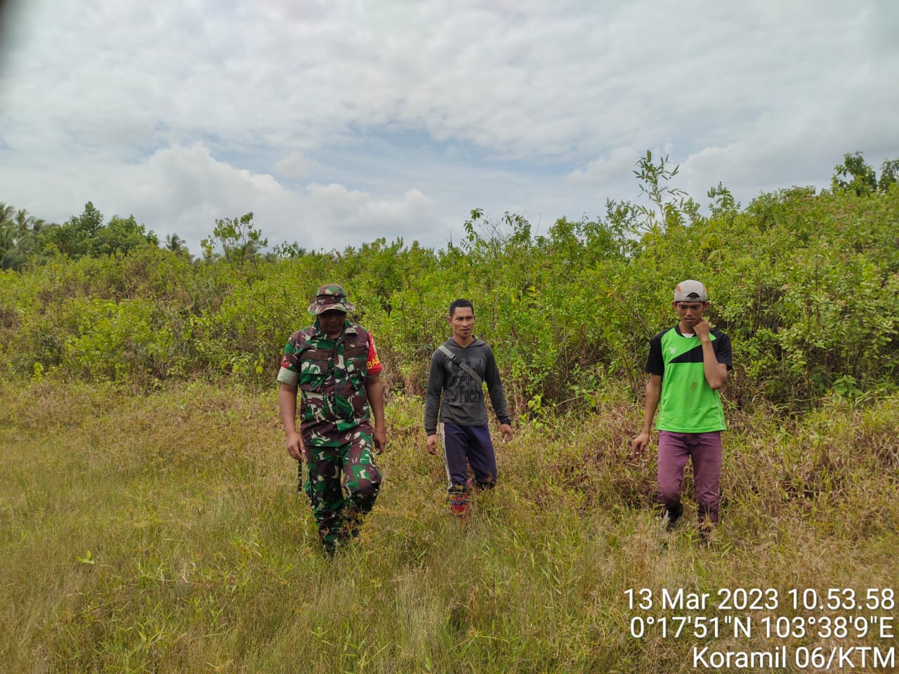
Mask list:
[[[704,213],[672,186],[677,167],[647,153],[635,173],[648,205],[610,200],[604,217],[544,234],[476,209],[441,249],[380,238],[268,250],[248,213],[218,220],[196,260],[177,235],[160,246],[91,203],[63,225],[0,204],[0,377],[271,383],[316,288],[341,282],[394,394],[422,392],[449,302],[468,297],[518,413],[583,411],[611,389],[639,395],[648,340],[674,322],[674,284],[693,278],[733,339],[735,404],[878,395],[897,383],[897,169],[887,161],[878,176],[845,155],[831,190],[743,208],[719,184]]]

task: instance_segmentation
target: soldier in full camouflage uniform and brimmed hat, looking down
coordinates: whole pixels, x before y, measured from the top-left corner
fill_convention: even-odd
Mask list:
[[[372,449],[380,454],[387,444],[382,366],[371,333],[346,319],[353,309],[340,286],[318,288],[309,306],[316,321],[290,336],[278,373],[287,451],[306,461],[303,488],[329,555],[359,533],[374,506],[381,474]]]

